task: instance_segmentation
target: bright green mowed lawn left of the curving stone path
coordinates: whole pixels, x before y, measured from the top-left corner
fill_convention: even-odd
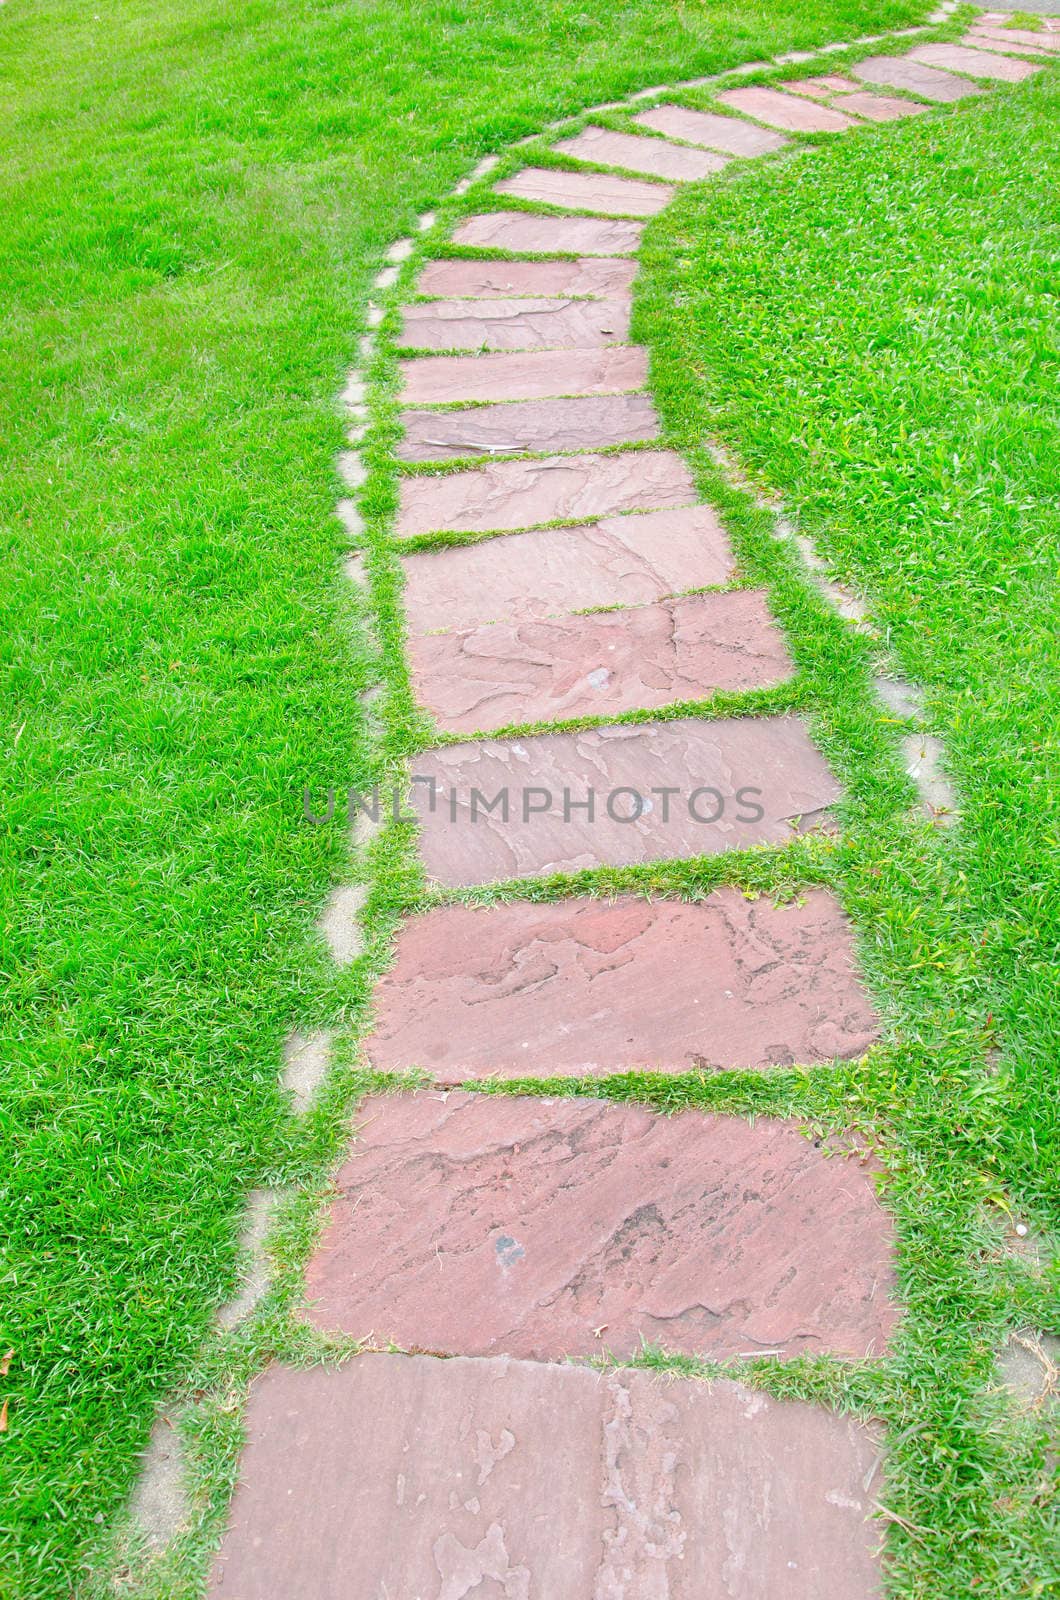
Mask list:
[[[317,1158],[277,1070],[349,1000],[301,789],[367,762],[333,397],[381,251],[549,117],[917,11],[0,10],[2,1592],[77,1589],[242,1195]]]

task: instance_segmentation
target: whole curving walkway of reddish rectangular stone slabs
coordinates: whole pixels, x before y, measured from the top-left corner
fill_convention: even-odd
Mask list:
[[[420,272],[395,454],[456,466],[405,469],[392,533],[413,685],[456,739],[416,763],[434,885],[836,827],[839,784],[794,715],[608,722],[793,672],[765,594],[732,587],[717,517],[658,443],[647,350],[626,342],[636,251],[682,182],[791,133],[980,96],[1060,50],[1002,21],[849,72],[815,58],[711,107],[650,91],[626,131],[559,139],[568,165],[496,182],[496,208],[452,235],[508,254]],[[375,1354],[255,1382],[211,1592],[877,1595],[871,1427],[730,1379],[584,1365],[644,1342],[884,1355],[895,1246],[865,1163],[777,1120],[466,1086],[858,1058],[879,1024],[834,898],[440,904],[402,926],[375,1016],[371,1064],[434,1088],[362,1104],[307,1272],[312,1323]]]

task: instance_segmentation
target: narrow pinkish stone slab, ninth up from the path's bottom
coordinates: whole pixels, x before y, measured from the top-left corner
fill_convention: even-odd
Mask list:
[[[412,405],[455,400],[548,400],[644,389],[647,350],[528,350],[525,355],[424,355],[399,362],[400,398]]]

